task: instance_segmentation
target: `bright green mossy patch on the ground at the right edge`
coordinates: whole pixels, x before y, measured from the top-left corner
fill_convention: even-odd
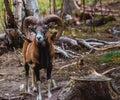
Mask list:
[[[101,57],[97,57],[96,61],[99,62],[120,62],[120,51],[111,51],[103,54]]]

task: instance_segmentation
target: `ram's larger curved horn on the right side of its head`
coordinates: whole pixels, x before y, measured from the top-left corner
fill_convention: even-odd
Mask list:
[[[48,15],[45,18],[43,18],[41,20],[41,22],[43,24],[48,24],[50,22],[55,22],[58,25],[58,33],[56,34],[56,39],[55,40],[59,39],[59,37],[62,35],[62,32],[63,32],[63,23],[62,23],[62,19],[59,16],[54,15],[54,14]]]

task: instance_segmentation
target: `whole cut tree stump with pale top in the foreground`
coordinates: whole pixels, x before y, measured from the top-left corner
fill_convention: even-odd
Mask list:
[[[73,77],[57,100],[112,100],[108,87],[110,80],[99,73],[89,77]]]

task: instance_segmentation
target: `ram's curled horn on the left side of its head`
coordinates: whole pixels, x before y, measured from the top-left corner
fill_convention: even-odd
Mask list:
[[[26,17],[24,22],[23,22],[23,32],[25,34],[28,34],[28,26],[29,25],[36,25],[38,24],[39,20],[37,17],[35,16],[29,16],[29,17]]]

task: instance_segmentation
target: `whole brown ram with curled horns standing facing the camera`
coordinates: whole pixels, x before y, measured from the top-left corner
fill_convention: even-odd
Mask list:
[[[49,27],[44,27],[44,25],[49,24],[50,22],[56,22],[59,26],[58,33],[54,33],[50,35],[48,31]],[[29,25],[33,25],[33,29],[28,27]],[[47,80],[48,80],[48,97],[51,96],[50,92],[50,79],[52,72],[52,62],[54,56],[54,46],[53,41],[54,38],[59,38],[62,34],[63,26],[62,21],[57,15],[49,15],[45,17],[43,20],[38,20],[35,16],[27,17],[24,21],[25,33],[28,34],[27,40],[24,41],[23,44],[23,59],[24,59],[24,67],[26,72],[26,91],[29,91],[29,64],[33,64],[32,68],[32,86],[35,89],[35,85],[37,84],[38,90],[38,98],[41,98],[40,93],[40,81],[42,78],[40,77],[39,70],[45,69]],[[31,28],[31,29],[30,29]],[[28,41],[28,39],[30,41]],[[36,90],[36,89],[35,89]],[[41,99],[40,99],[41,100]]]

